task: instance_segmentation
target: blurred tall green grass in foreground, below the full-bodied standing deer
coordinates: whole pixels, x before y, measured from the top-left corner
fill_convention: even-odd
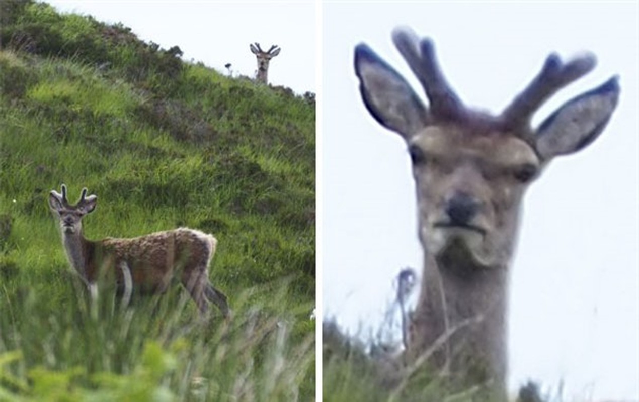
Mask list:
[[[186,295],[134,299],[121,309],[109,292],[88,303],[60,281],[71,297],[56,311],[39,289],[6,291],[0,325],[0,399],[8,400],[308,400],[313,337],[300,336],[273,304],[247,304],[253,289],[236,297],[229,322],[194,319]],[[176,292],[177,293],[177,292]],[[172,300],[171,300],[172,299]],[[3,331],[4,332],[4,331]],[[250,395],[250,397],[249,397]],[[302,398],[304,397],[304,398]],[[128,398],[128,399],[127,399]],[[4,400],[4,399],[3,399]]]

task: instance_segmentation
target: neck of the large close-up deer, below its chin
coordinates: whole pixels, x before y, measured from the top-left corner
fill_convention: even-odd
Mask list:
[[[507,285],[507,266],[478,266],[459,244],[426,255],[409,353],[417,357],[449,334],[429,362],[462,386],[487,383],[505,392]]]

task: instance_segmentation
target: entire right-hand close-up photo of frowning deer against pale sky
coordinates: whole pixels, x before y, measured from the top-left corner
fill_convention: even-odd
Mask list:
[[[325,401],[636,398],[637,28],[629,3],[323,4]]]

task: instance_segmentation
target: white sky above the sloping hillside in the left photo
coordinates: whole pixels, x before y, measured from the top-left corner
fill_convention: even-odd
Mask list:
[[[249,43],[282,48],[268,68],[268,82],[295,93],[315,92],[315,5],[312,0],[269,1],[46,1],[60,11],[122,22],[142,40],[178,45],[183,59],[202,61],[224,74],[255,76]]]

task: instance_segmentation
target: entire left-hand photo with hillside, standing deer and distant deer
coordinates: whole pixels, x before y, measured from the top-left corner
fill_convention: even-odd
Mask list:
[[[316,397],[316,3],[0,3],[0,399]]]

